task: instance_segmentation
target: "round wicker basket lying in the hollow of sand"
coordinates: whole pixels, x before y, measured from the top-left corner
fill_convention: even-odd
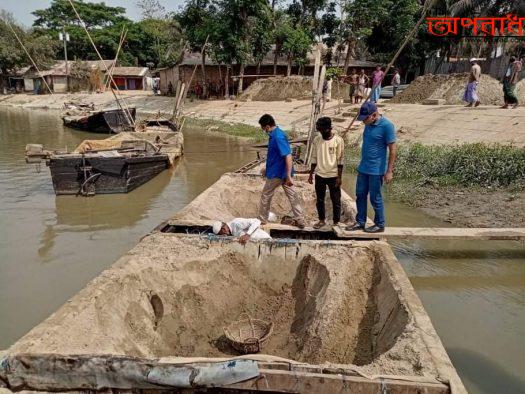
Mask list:
[[[241,353],[259,353],[272,334],[273,323],[253,319],[243,313],[239,320],[224,328],[224,335],[233,348]]]

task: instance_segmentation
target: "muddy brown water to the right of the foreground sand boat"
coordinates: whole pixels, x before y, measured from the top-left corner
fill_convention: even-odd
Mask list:
[[[344,183],[355,195],[355,177]],[[451,226],[386,197],[388,225]],[[525,393],[525,244],[413,240],[391,245],[469,392]]]

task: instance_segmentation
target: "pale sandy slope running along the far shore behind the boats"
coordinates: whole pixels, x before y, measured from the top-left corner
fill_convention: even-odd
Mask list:
[[[174,99],[153,96],[150,92],[122,92],[129,105],[142,114],[171,113]],[[97,107],[114,107],[111,93],[101,94],[55,94],[35,96],[17,94],[0,96],[0,106],[23,108],[60,109],[64,101],[93,102]],[[309,100],[287,101],[231,101],[188,100],[185,113],[200,119],[245,123],[258,126],[264,113],[274,115],[277,122],[287,130],[306,133],[310,116]],[[334,120],[336,130],[344,130],[350,123],[358,106],[331,101],[324,114]],[[525,146],[525,108],[502,110],[497,106],[464,108],[461,105],[382,104],[380,110],[390,118],[398,129],[400,141],[418,141],[425,144],[451,144],[485,142]],[[357,125],[351,135],[358,135],[362,127]]]

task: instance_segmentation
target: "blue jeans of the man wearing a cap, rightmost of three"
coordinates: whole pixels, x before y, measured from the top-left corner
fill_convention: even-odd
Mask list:
[[[355,221],[365,226],[368,195],[370,203],[375,211],[374,223],[378,227],[385,227],[385,210],[383,207],[383,197],[381,196],[381,186],[383,185],[383,175],[357,174],[357,184],[355,188],[357,216]]]

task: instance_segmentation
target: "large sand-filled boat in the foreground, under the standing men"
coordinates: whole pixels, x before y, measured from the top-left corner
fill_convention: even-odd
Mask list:
[[[211,220],[256,215],[262,185],[225,174],[8,349],[0,385],[464,393],[387,243],[283,225],[246,245],[210,233]],[[313,187],[296,188],[313,221]],[[343,199],[350,217],[353,202]],[[272,210],[289,209],[278,191]],[[225,339],[224,327],[245,314],[273,323],[261,353],[239,355]]]

